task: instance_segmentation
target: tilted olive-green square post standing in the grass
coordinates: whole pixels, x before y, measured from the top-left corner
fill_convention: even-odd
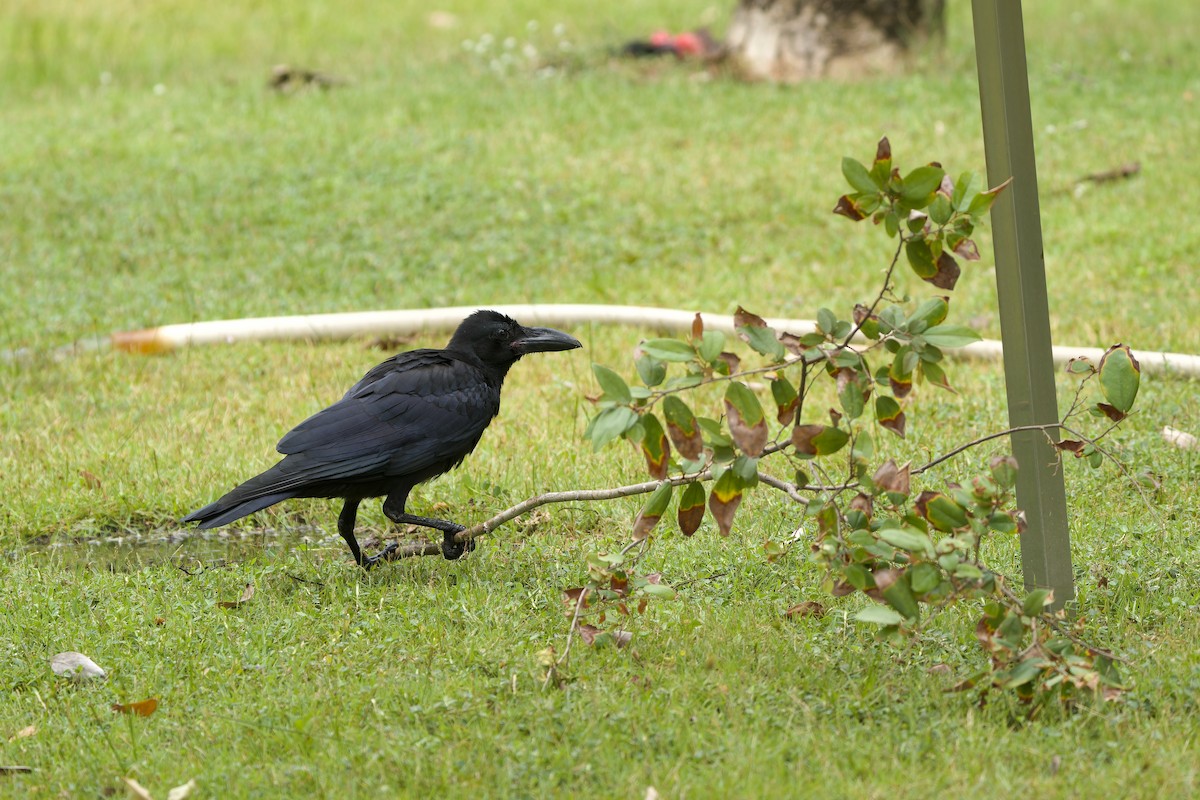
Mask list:
[[[1058,401],[1021,2],[972,0],[972,17],[988,182],[1013,179],[991,210],[1008,420],[1013,427],[1052,423],[1058,421]],[[1016,503],[1028,523],[1021,536],[1025,587],[1052,589],[1055,607],[1062,608],[1075,599],[1062,463],[1037,431],[1012,439],[1019,465]]]

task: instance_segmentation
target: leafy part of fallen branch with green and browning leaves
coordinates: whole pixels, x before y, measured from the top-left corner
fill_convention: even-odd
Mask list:
[[[672,505],[685,536],[706,513],[728,535],[744,494],[763,483],[797,503],[796,539],[809,540],[828,590],[872,601],[857,618],[878,626],[882,638],[917,634],[949,604],[979,604],[976,636],[988,666],[961,688],[980,696],[1013,690],[1034,708],[1055,697],[1115,696],[1121,679],[1114,657],[1051,610],[1048,591],[1022,596],[982,560],[985,542],[1010,541],[1024,529],[1014,506],[1015,459],[1000,452],[961,483],[914,487],[930,468],[1013,431],[967,441],[922,465],[887,455],[888,440],[902,439],[911,425],[906,409],[914,386],[953,391],[944,351],[979,339],[949,321],[948,295],[896,296],[895,270],[904,259],[926,283],[953,290],[959,260],[979,259],[971,235],[1007,184],[985,190],[977,175],[955,179],[937,163],[901,174],[886,138],[870,167],[845,158],[842,174],[853,192],[834,212],[869,218],[895,241],[872,302],[846,317],[821,308],[815,329],[802,332],[776,331],[739,308],[737,336],[752,351],[745,356],[697,314],[686,338],[638,344],[632,381],[593,366],[602,393],[594,398],[587,438],[598,449],[617,439],[632,443],[655,483],[647,487],[650,497],[632,524],[632,542],[618,557],[593,557],[588,585],[566,594],[572,631],[582,631],[581,619],[590,613],[619,637],[632,593],[671,593],[658,576],[638,577],[636,559]],[[1051,440],[1099,467],[1102,439],[1133,408],[1139,366],[1129,348],[1117,344],[1099,365],[1075,360],[1068,372],[1082,377],[1075,402],[1061,422],[1034,427],[1066,434]],[[1099,398],[1088,399],[1093,391]],[[1087,413],[1104,421],[1098,433],[1075,427]],[[775,559],[787,546],[768,542],[766,549]],[[599,636],[601,628],[588,625],[589,634]]]

